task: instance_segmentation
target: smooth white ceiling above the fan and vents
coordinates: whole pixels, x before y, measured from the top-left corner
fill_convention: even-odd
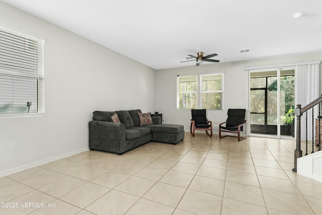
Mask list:
[[[154,69],[195,65],[180,61],[198,51],[220,62],[322,52],[321,0],[3,2]]]

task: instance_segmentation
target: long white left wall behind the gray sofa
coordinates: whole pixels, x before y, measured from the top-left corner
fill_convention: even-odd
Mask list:
[[[2,2],[0,25],[46,39],[45,115],[0,117],[0,176],[88,150],[95,110],[155,111],[154,69]]]

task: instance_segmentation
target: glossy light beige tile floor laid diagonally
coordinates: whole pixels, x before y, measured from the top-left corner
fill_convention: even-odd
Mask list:
[[[11,206],[0,214],[322,214],[322,183],[292,172],[294,149],[186,133],[121,156],[87,151],[0,178]]]

